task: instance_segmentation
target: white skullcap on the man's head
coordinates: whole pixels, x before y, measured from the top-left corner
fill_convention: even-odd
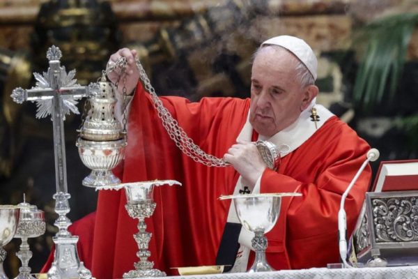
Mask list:
[[[309,72],[314,76],[314,80],[316,80],[318,61],[316,60],[314,51],[312,51],[311,47],[309,47],[304,40],[284,35],[265,40],[261,45],[279,45],[286,48],[286,50],[295,54],[295,56],[304,63],[304,66],[307,66]]]

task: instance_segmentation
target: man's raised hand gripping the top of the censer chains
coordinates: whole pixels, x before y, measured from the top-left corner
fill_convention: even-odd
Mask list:
[[[139,71],[137,68],[137,64],[135,63],[135,59],[137,57],[137,51],[136,50],[130,50],[128,48],[123,48],[121,50],[118,50],[114,54],[111,54],[109,61],[107,62],[107,66],[114,66],[114,63],[118,61],[121,57],[125,57],[127,61],[127,65],[125,68],[125,75],[126,80],[123,82],[123,77],[120,77],[121,75],[121,69],[115,68],[110,73],[107,74],[107,77],[109,77],[109,80],[116,84],[116,82],[119,81],[118,84],[118,92],[123,92],[123,86],[126,87],[126,93],[127,95],[132,94],[134,89],[137,86],[137,82],[139,79]]]

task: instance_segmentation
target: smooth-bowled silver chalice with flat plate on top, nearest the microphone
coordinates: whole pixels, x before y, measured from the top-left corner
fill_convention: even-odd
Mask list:
[[[247,231],[254,233],[251,247],[256,259],[248,272],[274,271],[265,259],[268,246],[265,234],[270,232],[279,218],[281,197],[302,196],[300,193],[272,193],[221,196],[219,199],[233,199],[240,223]]]

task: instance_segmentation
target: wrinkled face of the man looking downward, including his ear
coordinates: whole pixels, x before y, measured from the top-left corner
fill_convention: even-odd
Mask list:
[[[258,52],[251,73],[251,126],[266,137],[290,126],[311,103],[312,94],[296,79],[297,58],[276,47]]]

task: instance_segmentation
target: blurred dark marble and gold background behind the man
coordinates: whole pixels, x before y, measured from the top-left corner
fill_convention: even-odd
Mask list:
[[[47,70],[51,45],[80,84],[97,80],[111,53],[131,47],[158,94],[199,100],[246,98],[256,47],[272,36],[298,36],[318,56],[318,103],[378,148],[380,160],[406,160],[418,151],[417,24],[416,0],[0,0],[0,204],[18,204],[25,193],[45,211],[47,233],[29,240],[33,272],[56,232],[52,123],[10,94]],[[72,221],[97,201],[81,183],[89,170],[75,146],[80,122],[74,114],[65,120]],[[19,244],[6,246],[13,277]]]

